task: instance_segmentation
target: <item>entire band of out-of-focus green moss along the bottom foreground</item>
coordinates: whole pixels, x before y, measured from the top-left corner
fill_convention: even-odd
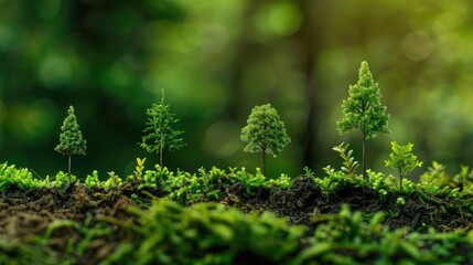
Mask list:
[[[128,211],[135,222],[104,219],[87,229],[63,223],[83,240],[72,242],[61,259],[80,259],[85,239],[110,236],[107,225],[119,231],[114,237],[120,243],[101,264],[469,264],[473,258],[473,231],[393,231],[381,224],[383,213],[366,222],[347,205],[314,216],[314,231],[269,212],[246,214],[213,202],[184,208],[164,199]]]

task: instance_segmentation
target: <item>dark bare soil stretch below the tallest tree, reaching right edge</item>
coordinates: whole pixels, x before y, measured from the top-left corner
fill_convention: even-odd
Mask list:
[[[405,205],[397,205],[397,195],[388,193],[385,199],[368,188],[345,186],[326,194],[315,186],[311,178],[298,178],[292,187],[284,191],[262,189],[254,197],[245,195],[243,186],[237,183],[229,189],[222,203],[244,211],[270,210],[286,216],[293,224],[313,226],[312,216],[337,213],[343,204],[350,204],[353,211],[370,213],[385,212],[384,224],[398,229],[408,226],[412,231],[426,231],[433,226],[447,232],[456,229],[472,229],[473,214],[465,208],[463,200],[430,198],[412,194],[405,198]]]

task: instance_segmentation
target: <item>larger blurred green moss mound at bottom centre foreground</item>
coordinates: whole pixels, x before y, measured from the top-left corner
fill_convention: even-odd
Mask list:
[[[281,264],[305,232],[269,212],[244,214],[216,203],[182,208],[162,200],[131,212],[139,226],[123,229],[133,240],[121,243],[104,264],[236,264],[243,257]]]

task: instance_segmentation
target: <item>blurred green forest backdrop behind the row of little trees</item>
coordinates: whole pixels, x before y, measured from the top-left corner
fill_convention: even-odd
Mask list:
[[[255,105],[271,103],[292,138],[268,174],[318,174],[361,135],[341,137],[341,102],[367,60],[391,115],[368,141],[384,167],[389,141],[412,141],[424,167],[473,165],[473,2],[469,0],[0,0],[0,160],[41,176],[66,169],[53,149],[68,105],[87,140],[83,178],[128,174],[146,109],[160,91],[187,146],[171,169],[246,167],[239,140]],[[418,169],[418,173],[422,169]],[[393,172],[394,173],[394,172]]]

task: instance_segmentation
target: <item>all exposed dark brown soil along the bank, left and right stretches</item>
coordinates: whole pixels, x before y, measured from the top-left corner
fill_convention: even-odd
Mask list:
[[[31,242],[44,234],[47,225],[54,220],[73,220],[83,224],[86,219],[92,224],[103,216],[116,220],[130,220],[127,212],[133,187],[126,184],[119,190],[87,190],[82,184],[74,184],[66,190],[40,189],[21,191],[10,188],[0,194],[0,240],[12,242]],[[162,197],[160,190],[150,191],[152,195]],[[142,195],[142,199],[150,200]],[[245,193],[245,187],[236,183],[223,190],[219,202],[236,206],[245,212],[270,210],[280,216],[287,216],[293,224],[314,227],[312,216],[324,213],[337,213],[343,204],[350,204],[353,211],[363,211],[367,216],[384,211],[385,224],[391,229],[409,226],[423,231],[430,225],[438,231],[472,229],[473,214],[462,208],[461,200],[430,198],[415,194],[405,198],[405,205],[396,204],[397,195],[388,193],[385,199],[367,188],[341,187],[331,194],[322,192],[311,178],[300,177],[289,190],[260,189],[252,195]],[[79,264],[96,264],[110,254],[117,244],[119,232],[108,237],[90,242],[87,254]],[[71,239],[80,237],[73,229],[54,231],[49,246],[63,252]]]

